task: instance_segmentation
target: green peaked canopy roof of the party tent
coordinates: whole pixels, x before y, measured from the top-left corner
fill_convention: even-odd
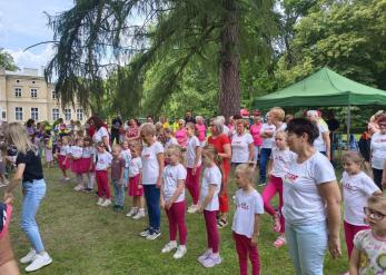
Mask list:
[[[304,80],[276,92],[259,97],[258,108],[386,105],[386,91],[372,88],[323,68]]]

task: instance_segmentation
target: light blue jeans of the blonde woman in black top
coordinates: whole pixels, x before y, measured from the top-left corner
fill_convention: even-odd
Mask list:
[[[46,195],[46,181],[44,179],[36,179],[32,183],[23,181],[22,188],[24,196],[22,199],[20,226],[30,240],[32,248],[39,253],[44,251],[44,246],[34,216],[38,213],[40,202]]]

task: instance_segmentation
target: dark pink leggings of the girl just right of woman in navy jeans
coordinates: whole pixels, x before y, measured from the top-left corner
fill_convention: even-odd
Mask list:
[[[185,245],[186,244],[186,236],[187,236],[187,227],[185,223],[185,212],[186,212],[186,203],[185,200],[179,203],[174,203],[171,205],[171,208],[169,210],[166,210],[166,215],[168,216],[169,220],[169,238],[170,240],[177,239],[177,228],[179,233],[179,244]]]

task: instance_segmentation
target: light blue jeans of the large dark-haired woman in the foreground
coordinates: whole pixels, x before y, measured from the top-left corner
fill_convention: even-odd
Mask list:
[[[286,239],[297,275],[323,275],[327,248],[327,223],[290,225],[286,223]]]

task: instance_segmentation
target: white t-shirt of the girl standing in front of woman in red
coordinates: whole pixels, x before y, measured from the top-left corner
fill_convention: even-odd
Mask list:
[[[221,171],[217,166],[205,168],[200,189],[200,204],[202,204],[206,196],[208,196],[209,186],[216,186],[214,197],[211,198],[210,203],[205,207],[205,209],[208,212],[217,212],[219,209],[218,194],[221,189]]]

